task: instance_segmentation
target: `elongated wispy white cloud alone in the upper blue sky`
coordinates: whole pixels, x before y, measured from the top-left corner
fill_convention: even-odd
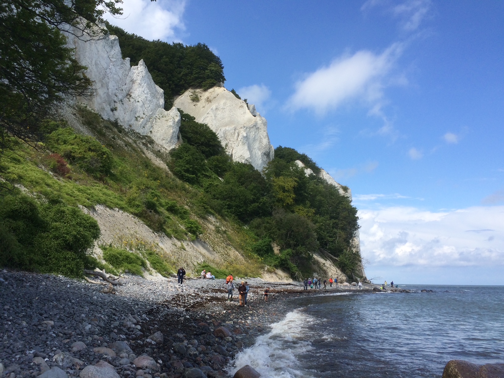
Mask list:
[[[361,50],[336,58],[329,66],[308,74],[296,84],[289,107],[308,108],[323,114],[357,98],[368,103],[372,113],[379,113],[384,78],[402,50],[402,43],[394,43],[381,54]]]

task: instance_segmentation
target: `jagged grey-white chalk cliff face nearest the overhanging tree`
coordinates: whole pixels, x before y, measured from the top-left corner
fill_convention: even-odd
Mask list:
[[[77,101],[105,119],[117,120],[125,129],[151,136],[168,150],[175,147],[180,114],[175,107],[164,110],[163,90],[154,84],[144,61],[130,67],[130,58],[122,59],[115,35],[67,37],[75,58],[88,68],[86,75],[94,82],[94,96]]]

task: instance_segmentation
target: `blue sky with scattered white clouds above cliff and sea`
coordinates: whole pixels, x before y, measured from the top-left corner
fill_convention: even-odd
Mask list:
[[[125,0],[352,189],[368,277],[504,284],[504,3]]]

